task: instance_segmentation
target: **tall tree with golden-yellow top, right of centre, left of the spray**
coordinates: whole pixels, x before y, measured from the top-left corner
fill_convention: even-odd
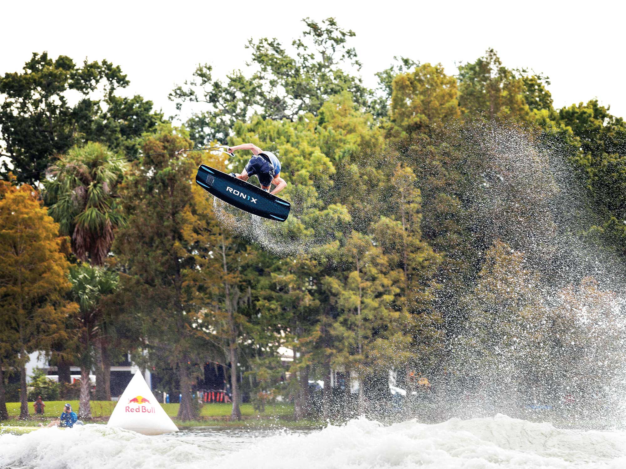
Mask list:
[[[401,235],[381,238],[393,246],[406,239],[404,229],[398,231],[398,222],[413,212],[410,216],[414,220],[408,226],[419,231],[414,239],[423,240],[438,253],[439,261],[430,263],[437,266],[434,278],[426,280],[426,275],[421,281],[426,280],[426,284],[436,281],[438,288],[430,290],[434,308],[431,313],[443,316],[438,320],[444,321],[447,331],[459,327],[456,299],[470,288],[475,261],[480,256],[475,245],[476,230],[471,226],[473,215],[468,208],[468,199],[471,201],[468,191],[474,185],[475,173],[468,171],[468,151],[459,144],[464,136],[462,109],[457,100],[456,81],[446,76],[441,66],[424,64],[413,73],[394,79],[391,125],[387,126],[385,135],[387,159],[396,161],[389,164],[389,169],[394,169],[396,175],[387,174],[386,178],[394,181],[398,190],[411,188],[413,195],[406,199],[409,201],[406,208],[394,203],[394,220],[377,223],[379,233],[384,233],[385,225],[391,223],[391,229]],[[411,168],[411,174],[406,168]],[[406,209],[409,211],[403,214]],[[424,358],[428,356],[433,355],[427,353]],[[421,368],[423,363],[418,366]]]

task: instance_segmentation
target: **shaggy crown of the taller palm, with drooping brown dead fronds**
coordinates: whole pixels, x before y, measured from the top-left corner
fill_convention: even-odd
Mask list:
[[[50,216],[60,225],[60,234],[71,236],[74,255],[91,265],[104,263],[113,231],[124,221],[115,196],[124,163],[102,163],[115,158],[100,143],[74,146],[56,161],[56,168],[72,167],[53,168],[50,172],[54,177],[43,181],[44,200]]]

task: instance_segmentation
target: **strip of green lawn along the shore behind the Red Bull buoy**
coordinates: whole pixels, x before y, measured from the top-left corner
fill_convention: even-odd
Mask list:
[[[39,423],[47,425],[54,418],[63,413],[65,403],[72,406],[72,410],[78,413],[78,401],[45,401],[45,413],[43,416],[34,413],[33,403],[28,403],[30,420],[18,420],[19,402],[9,402],[6,407],[9,411],[9,420],[0,421],[0,426],[38,426]],[[106,423],[108,416],[113,412],[116,402],[114,401],[91,401],[91,415],[95,421],[90,423]],[[165,413],[173,418],[178,426],[289,426],[290,428],[311,428],[317,426],[316,422],[299,421],[290,419],[294,412],[294,406],[290,404],[277,404],[265,406],[265,413],[260,414],[252,408],[252,404],[240,406],[242,421],[228,421],[232,405],[227,403],[203,404],[200,408],[200,418],[195,421],[180,421],[176,419],[178,404],[160,404]],[[1,432],[1,430],[0,430]]]

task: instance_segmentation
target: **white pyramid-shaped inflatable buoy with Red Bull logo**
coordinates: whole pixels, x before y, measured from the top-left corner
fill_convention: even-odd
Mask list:
[[[139,371],[120,396],[107,425],[133,430],[142,435],[161,435],[178,431]]]

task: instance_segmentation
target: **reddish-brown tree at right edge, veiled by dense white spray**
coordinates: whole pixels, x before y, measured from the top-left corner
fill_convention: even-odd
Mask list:
[[[590,411],[612,408],[615,390],[622,386],[623,299],[595,278],[584,277],[559,290],[555,300],[538,337],[543,353],[533,356],[536,380],[559,397],[601,396],[602,403],[592,401]]]

